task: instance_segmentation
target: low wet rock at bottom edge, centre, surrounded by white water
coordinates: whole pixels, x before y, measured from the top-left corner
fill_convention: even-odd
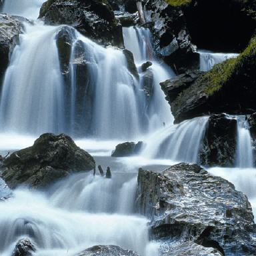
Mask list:
[[[75,256],[139,256],[134,251],[122,249],[116,245],[95,245]]]

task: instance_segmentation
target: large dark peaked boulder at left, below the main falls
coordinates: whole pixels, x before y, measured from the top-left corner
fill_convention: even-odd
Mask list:
[[[95,161],[75,145],[71,137],[45,133],[32,147],[21,149],[3,161],[1,177],[11,189],[24,185],[43,188],[78,171],[91,171]]]

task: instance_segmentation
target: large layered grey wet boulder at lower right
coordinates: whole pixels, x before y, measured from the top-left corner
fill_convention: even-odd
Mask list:
[[[198,165],[180,163],[163,173],[139,169],[137,209],[151,219],[155,239],[190,241],[225,255],[256,253],[247,197]]]

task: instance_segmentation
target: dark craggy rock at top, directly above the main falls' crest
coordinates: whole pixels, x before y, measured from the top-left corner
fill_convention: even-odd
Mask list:
[[[123,47],[121,25],[105,0],[48,0],[39,18],[49,25],[71,25],[101,45]]]

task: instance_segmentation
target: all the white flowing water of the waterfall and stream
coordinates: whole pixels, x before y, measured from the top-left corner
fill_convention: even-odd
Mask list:
[[[3,11],[35,19],[43,1],[6,0]],[[71,37],[66,75],[56,44],[61,31]],[[157,243],[149,239],[149,220],[135,214],[137,168],[161,171],[180,161],[198,163],[208,117],[173,125],[159,86],[173,71],[155,56],[149,29],[123,28],[123,36],[139,78],[129,71],[121,49],[101,47],[68,26],[25,24],[3,82],[0,153],[28,147],[47,131],[65,132],[76,137],[97,164],[110,166],[113,177],[79,173],[47,191],[13,191],[13,197],[0,203],[1,255],[11,255],[24,237],[37,245],[37,256],[72,256],[99,244],[158,255]],[[229,57],[236,55],[201,51],[201,70]],[[152,65],[143,71],[146,61]],[[229,179],[256,202],[251,137],[246,121],[237,121],[237,168],[209,171]],[[128,139],[144,142],[141,153],[110,157],[115,145]],[[1,198],[11,193],[3,181],[0,187]]]

